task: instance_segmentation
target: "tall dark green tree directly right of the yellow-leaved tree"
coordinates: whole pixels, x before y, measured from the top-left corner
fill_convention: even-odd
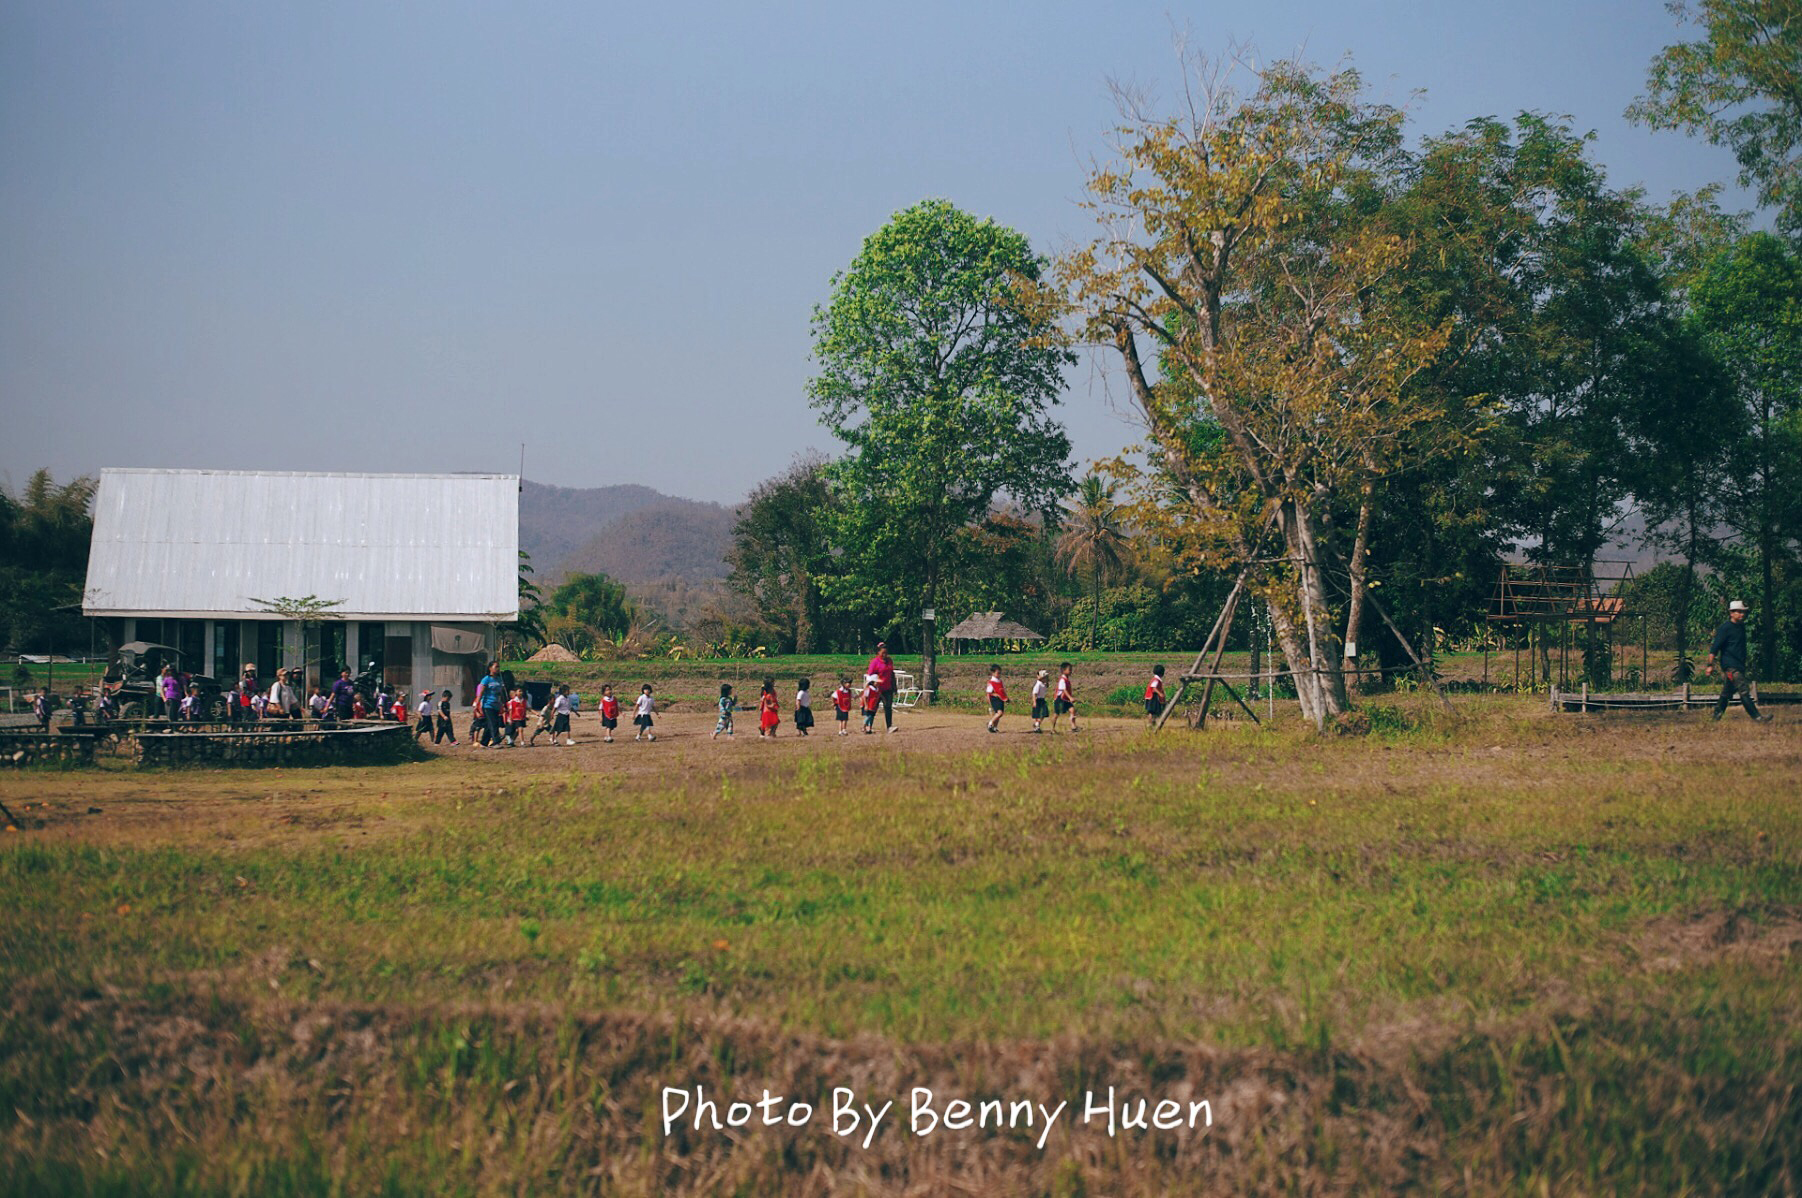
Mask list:
[[[1418,247],[1407,301],[1454,326],[1416,386],[1445,391],[1476,432],[1474,452],[1388,479],[1380,566],[1404,623],[1478,620],[1510,540],[1593,567],[1645,495],[1663,504],[1656,521],[1688,501],[1690,531],[1706,535],[1721,431],[1708,422],[1721,411],[1681,322],[1679,279],[1732,223],[1710,195],[1652,213],[1609,187],[1589,139],[1523,113],[1427,139],[1384,222]],[[1606,654],[1591,649],[1600,681]]]

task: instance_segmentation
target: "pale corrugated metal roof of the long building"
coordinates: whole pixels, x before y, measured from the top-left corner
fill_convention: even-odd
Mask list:
[[[508,474],[101,470],[83,611],[267,616],[344,600],[351,620],[519,616]]]

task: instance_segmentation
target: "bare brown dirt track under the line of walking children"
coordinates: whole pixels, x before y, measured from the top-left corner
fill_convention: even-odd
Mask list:
[[[1034,735],[1031,721],[1009,712],[998,733],[986,730],[986,717],[950,710],[896,713],[896,731],[865,735],[856,719],[851,733],[834,733],[831,715],[811,737],[798,737],[787,712],[775,739],[759,739],[755,712],[741,713],[733,737],[714,739],[714,713],[660,712],[654,742],[634,742],[631,728],[614,740],[602,740],[593,713],[578,717],[573,746],[479,749],[463,735],[460,742],[432,746],[422,740],[423,760],[380,767],[323,769],[184,769],[135,771],[117,767],[81,771],[4,771],[0,802],[18,818],[22,841],[135,845],[180,843],[250,849],[268,843],[341,841],[404,830],[425,807],[445,800],[481,798],[523,787],[557,791],[600,784],[604,791],[656,794],[663,787],[694,787],[728,778],[733,784],[778,785],[807,762],[842,767],[847,787],[879,784],[905,775],[903,785],[933,785],[935,762],[944,760],[951,782],[982,787],[969,776],[971,753],[1013,758],[1034,749],[1119,746],[1128,757],[1155,748],[1177,751],[1179,760],[1225,767],[1220,780],[1265,778],[1278,787],[1328,785],[1348,794],[1427,793],[1442,785],[1479,785],[1514,791],[1561,791],[1604,785],[1629,762],[1642,762],[1654,775],[1642,780],[1649,793],[1681,785],[1685,773],[1748,778],[1762,776],[1766,798],[1802,794],[1797,775],[1802,721],[1779,710],[1777,721],[1753,726],[1730,717],[1710,724],[1706,715],[1672,717],[1609,713],[1559,717],[1534,704],[1514,704],[1499,726],[1481,726],[1451,740],[1389,744],[1379,737],[1310,742],[1294,710],[1278,713],[1278,733],[1260,733],[1243,721],[1211,722],[1207,731],[1171,724],[1155,740],[1141,719],[1083,719],[1081,731]],[[1481,717],[1478,717],[1481,719]],[[1299,737],[1299,740],[1297,740]],[[1193,749],[1195,755],[1182,749]],[[1395,751],[1391,751],[1395,749]],[[1265,773],[1270,753],[1288,764]],[[1290,757],[1299,753],[1299,757]],[[1112,755],[1110,755],[1112,757]],[[951,760],[959,758],[959,760]],[[1299,760],[1312,766],[1303,771]],[[1166,766],[1169,758],[1164,758]],[[1139,766],[1123,769],[1137,773]],[[1013,778],[1016,769],[1007,771]],[[1303,776],[1306,773],[1306,776]],[[1789,776],[1788,793],[1784,776]],[[1051,775],[1045,775],[1047,785]],[[1018,782],[1009,782],[1018,785]],[[1775,789],[1773,789],[1775,787]],[[420,800],[425,800],[423,803]]]

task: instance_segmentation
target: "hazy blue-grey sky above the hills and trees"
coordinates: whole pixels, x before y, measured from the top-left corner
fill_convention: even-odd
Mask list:
[[[0,479],[524,441],[737,501],[833,447],[809,319],[861,240],[926,196],[1083,240],[1108,81],[1171,95],[1177,31],[1350,54],[1416,135],[1570,113],[1654,198],[1734,175],[1620,115],[1694,36],[1654,0],[0,0]],[[1090,369],[1061,414],[1135,440]]]

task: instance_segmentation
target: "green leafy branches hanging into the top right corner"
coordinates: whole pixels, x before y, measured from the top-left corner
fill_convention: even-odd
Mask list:
[[[1672,0],[1703,36],[1667,45],[1627,108],[1656,130],[1701,133],[1739,160],[1791,236],[1802,236],[1802,4],[1798,0]]]

